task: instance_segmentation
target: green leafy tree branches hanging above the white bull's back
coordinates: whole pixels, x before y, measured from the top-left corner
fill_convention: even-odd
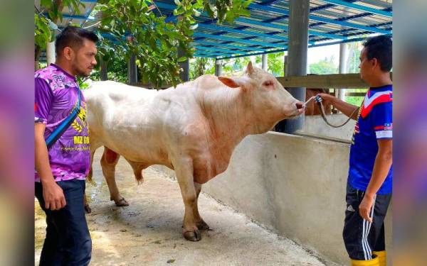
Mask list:
[[[250,1],[243,0],[175,0],[173,22],[165,16],[150,11],[154,1],[100,0],[102,12],[100,55],[105,61],[135,54],[140,62],[143,83],[176,85],[179,79],[179,62],[191,58],[192,35],[197,27],[196,17],[205,12],[218,23],[233,21],[247,15]],[[108,36],[108,38],[105,38]],[[178,57],[178,50],[184,56]],[[114,60],[114,59],[113,59]],[[199,65],[200,66],[200,65]]]

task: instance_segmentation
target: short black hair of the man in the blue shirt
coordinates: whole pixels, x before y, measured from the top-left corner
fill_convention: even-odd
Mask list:
[[[368,38],[363,43],[364,48],[367,48],[367,58],[369,60],[376,58],[381,70],[389,72],[392,66],[392,41],[389,35],[379,35]]]

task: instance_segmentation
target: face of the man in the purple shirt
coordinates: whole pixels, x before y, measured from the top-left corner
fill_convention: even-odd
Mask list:
[[[83,40],[83,45],[74,52],[71,62],[73,72],[77,76],[88,77],[97,63],[95,60],[96,53],[95,43],[91,40]]]

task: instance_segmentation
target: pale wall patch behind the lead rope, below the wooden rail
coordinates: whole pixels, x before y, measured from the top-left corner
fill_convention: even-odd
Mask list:
[[[347,116],[342,113],[333,113],[327,115],[327,121],[330,121],[332,125],[341,125],[347,120]],[[323,121],[322,116],[305,116],[304,132],[325,135],[332,138],[342,138],[344,140],[351,140],[354,125],[356,121],[350,120],[345,126],[341,128],[332,128]]]

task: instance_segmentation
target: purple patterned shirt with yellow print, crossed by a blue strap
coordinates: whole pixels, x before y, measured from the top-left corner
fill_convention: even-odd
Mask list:
[[[35,73],[35,85],[35,123],[46,124],[46,139],[77,106],[80,88],[75,77],[54,64]],[[85,179],[88,176],[90,150],[83,94],[80,113],[48,153],[55,181]],[[37,172],[35,175],[36,182],[40,182]]]

